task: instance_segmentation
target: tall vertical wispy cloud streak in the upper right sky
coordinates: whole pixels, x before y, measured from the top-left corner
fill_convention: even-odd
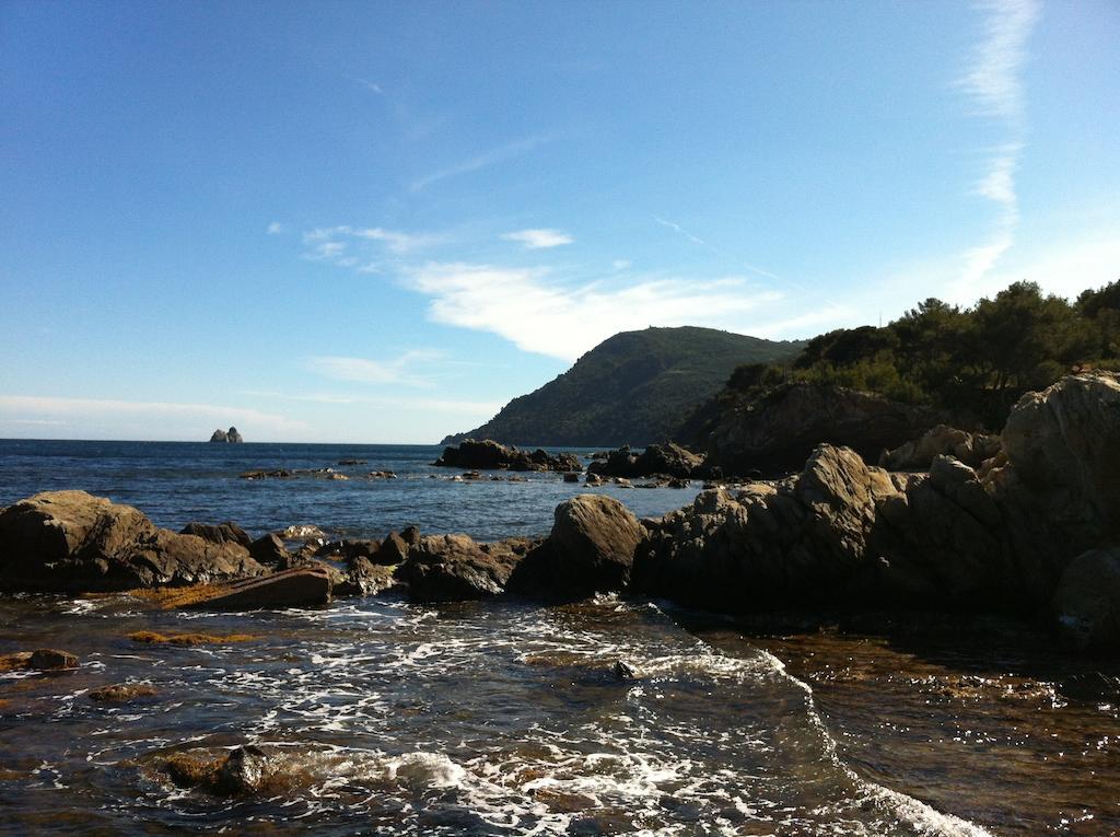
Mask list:
[[[987,0],[983,36],[958,80],[978,115],[1004,124],[1009,140],[990,155],[973,192],[999,208],[989,240],[967,250],[959,283],[974,287],[1015,244],[1019,223],[1015,174],[1024,151],[1024,92],[1020,78],[1027,40],[1038,18],[1037,0]]]

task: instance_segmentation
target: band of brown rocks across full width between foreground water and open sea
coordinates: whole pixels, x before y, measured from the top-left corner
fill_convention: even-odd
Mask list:
[[[584,494],[557,506],[548,537],[494,543],[418,531],[293,543],[284,533],[252,540],[230,522],[175,533],[133,508],[50,492],[0,512],[0,590],[142,590],[165,607],[312,605],[385,590],[416,602],[614,592],[737,614],[1002,612],[1051,624],[1085,651],[1120,650],[1117,376],[1071,375],[1024,397],[998,448],[942,430],[893,456],[914,465],[931,454],[927,473],[889,472],[822,444],[797,474],[717,486],[661,519]],[[666,473],[684,458],[672,448],[647,455]],[[533,456],[533,469],[571,465]]]

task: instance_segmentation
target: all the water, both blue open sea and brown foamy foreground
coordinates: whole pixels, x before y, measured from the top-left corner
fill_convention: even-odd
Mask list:
[[[545,534],[578,492],[648,517],[699,490],[457,481],[430,464],[439,450],[2,440],[0,506],[82,489],[171,529],[495,540]],[[296,476],[240,476],[280,468]],[[0,673],[3,835],[1120,834],[1120,707],[1085,689],[1120,672],[998,616],[746,620],[619,596],[245,613],[0,597],[0,653],[35,648],[81,666]],[[152,694],[92,698],[116,683]],[[261,792],[213,796],[164,766],[240,745],[279,765]]]

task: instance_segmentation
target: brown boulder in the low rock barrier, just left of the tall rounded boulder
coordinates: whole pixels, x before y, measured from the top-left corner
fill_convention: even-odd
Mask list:
[[[477,543],[466,534],[430,534],[409,548],[399,569],[414,602],[461,602],[496,596],[529,549],[511,539]]]

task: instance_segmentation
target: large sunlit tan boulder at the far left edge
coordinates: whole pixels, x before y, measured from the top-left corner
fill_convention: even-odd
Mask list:
[[[158,529],[137,509],[84,491],[36,494],[0,512],[0,590],[122,590],[263,571],[237,543]]]

